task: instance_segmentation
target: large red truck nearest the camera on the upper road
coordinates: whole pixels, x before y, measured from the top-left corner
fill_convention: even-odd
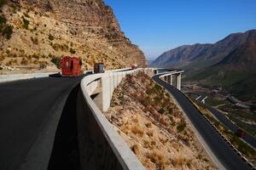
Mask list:
[[[76,57],[65,56],[61,59],[62,77],[79,77],[81,75],[81,61]]]

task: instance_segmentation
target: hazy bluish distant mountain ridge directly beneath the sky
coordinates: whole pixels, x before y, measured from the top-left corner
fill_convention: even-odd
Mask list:
[[[256,37],[256,30],[234,33],[214,44],[195,44],[174,48],[161,54],[151,64],[156,67],[201,69],[218,63],[242,43]]]

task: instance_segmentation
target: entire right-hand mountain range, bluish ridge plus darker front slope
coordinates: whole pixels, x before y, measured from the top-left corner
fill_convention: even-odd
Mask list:
[[[240,99],[256,103],[256,30],[230,34],[214,44],[174,48],[151,66],[182,68],[184,81],[218,85]]]

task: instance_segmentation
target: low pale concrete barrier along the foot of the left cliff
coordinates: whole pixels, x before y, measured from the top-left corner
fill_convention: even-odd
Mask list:
[[[0,75],[0,82],[12,82],[16,80],[25,80],[30,78],[49,77],[49,75],[56,74],[56,73],[57,72]]]

